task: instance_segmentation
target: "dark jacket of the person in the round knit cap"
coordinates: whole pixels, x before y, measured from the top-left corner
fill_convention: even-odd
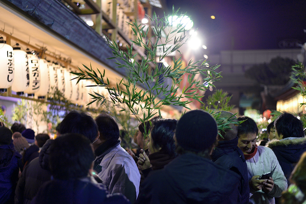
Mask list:
[[[237,203],[239,175],[192,153],[180,155],[141,184],[136,203]]]

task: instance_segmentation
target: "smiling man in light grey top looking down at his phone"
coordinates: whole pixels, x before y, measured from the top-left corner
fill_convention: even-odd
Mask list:
[[[253,203],[275,203],[274,197],[280,197],[287,189],[287,180],[273,151],[264,146],[257,146],[258,127],[256,122],[246,116],[238,127],[238,147],[243,151],[250,186],[250,201]],[[271,172],[265,179],[264,173]]]

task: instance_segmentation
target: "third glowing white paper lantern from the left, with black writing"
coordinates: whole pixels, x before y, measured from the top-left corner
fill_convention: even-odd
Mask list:
[[[28,62],[29,62],[29,88],[24,91],[28,93],[28,96],[34,96],[40,88],[40,70],[38,57],[36,55],[28,53]]]

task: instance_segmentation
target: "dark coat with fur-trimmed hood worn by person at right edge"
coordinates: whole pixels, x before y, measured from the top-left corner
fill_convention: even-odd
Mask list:
[[[289,182],[291,172],[303,152],[306,151],[306,138],[290,137],[282,140],[275,139],[269,142],[267,146],[273,150]]]

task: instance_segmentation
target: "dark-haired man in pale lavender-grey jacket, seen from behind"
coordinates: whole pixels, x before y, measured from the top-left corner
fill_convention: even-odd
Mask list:
[[[139,194],[140,173],[134,159],[120,146],[118,124],[108,114],[100,114],[95,121],[99,134],[92,143],[94,170],[110,194],[122,193],[134,203]]]

